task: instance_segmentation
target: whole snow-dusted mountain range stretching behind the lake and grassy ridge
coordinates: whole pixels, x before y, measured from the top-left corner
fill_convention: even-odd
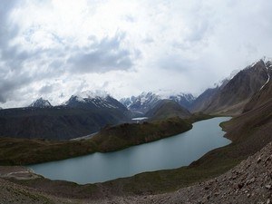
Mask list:
[[[119,102],[106,92],[82,92],[58,106],[40,98],[29,107],[1,110],[0,136],[68,140],[132,122],[133,117],[154,121],[189,118],[191,112],[238,115],[271,98],[271,75],[271,61],[260,59],[197,98],[190,93],[163,97],[142,92]]]

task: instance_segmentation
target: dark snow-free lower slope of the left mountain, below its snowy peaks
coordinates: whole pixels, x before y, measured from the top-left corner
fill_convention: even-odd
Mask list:
[[[0,112],[0,137],[70,140],[129,121],[119,110],[87,110],[56,106],[18,108]]]

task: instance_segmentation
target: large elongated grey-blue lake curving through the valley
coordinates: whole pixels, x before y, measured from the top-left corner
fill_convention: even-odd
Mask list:
[[[102,182],[152,170],[170,170],[189,165],[215,148],[229,144],[219,127],[219,117],[193,123],[193,128],[170,138],[153,141],[109,153],[58,160],[28,166],[51,180],[69,180],[79,184]]]

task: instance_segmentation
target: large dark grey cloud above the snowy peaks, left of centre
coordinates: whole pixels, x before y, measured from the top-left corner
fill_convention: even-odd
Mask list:
[[[128,70],[132,66],[131,51],[121,48],[124,34],[101,41],[94,40],[85,50],[74,53],[68,63],[72,73],[106,73],[112,70]]]

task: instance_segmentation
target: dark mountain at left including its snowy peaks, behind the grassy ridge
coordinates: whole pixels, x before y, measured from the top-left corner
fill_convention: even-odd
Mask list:
[[[1,110],[0,136],[69,140],[130,118],[127,108],[108,94],[84,92],[54,107],[40,98],[26,108]]]

